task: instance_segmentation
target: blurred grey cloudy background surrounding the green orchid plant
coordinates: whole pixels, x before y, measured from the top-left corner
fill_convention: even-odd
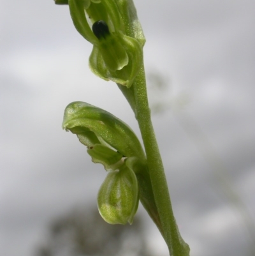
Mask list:
[[[168,255],[142,206],[132,226],[101,222],[106,172],[61,129],[64,108],[80,100],[140,137],[117,86],[89,70],[92,45],[68,6],[0,3],[0,255]],[[135,4],[180,233],[191,256],[254,256],[255,2]]]

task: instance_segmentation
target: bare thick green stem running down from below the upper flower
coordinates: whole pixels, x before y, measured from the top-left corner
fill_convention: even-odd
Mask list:
[[[173,209],[171,207],[164,167],[159,153],[159,147],[157,146],[154,128],[150,119],[150,109],[143,66],[132,87],[136,102],[136,119],[140,127],[140,132],[142,133],[143,144],[147,154],[150,180],[157,211],[163,226],[164,240],[168,245],[171,256],[188,256],[189,246],[180,236],[179,229],[175,222],[175,217],[173,216]]]

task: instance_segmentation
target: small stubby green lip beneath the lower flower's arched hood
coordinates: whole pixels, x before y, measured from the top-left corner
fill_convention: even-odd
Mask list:
[[[122,154],[101,144],[95,144],[87,149],[92,157],[92,162],[102,163],[106,170],[116,170],[122,165]]]

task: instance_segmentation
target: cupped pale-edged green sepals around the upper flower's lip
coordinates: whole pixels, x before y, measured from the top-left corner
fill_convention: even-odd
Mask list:
[[[110,36],[109,36],[110,37]],[[102,54],[100,46],[94,45],[91,56],[89,57],[89,66],[95,75],[105,80],[112,80],[122,86],[131,87],[133,80],[140,71],[143,63],[142,46],[135,38],[125,36],[124,34],[111,35],[112,40],[117,40],[119,45],[126,50],[128,54],[128,64],[120,70],[111,71],[108,68],[105,59],[112,58],[111,51]],[[105,45],[106,47],[108,45]],[[110,48],[110,47],[109,47]],[[116,54],[118,54],[116,52]],[[113,60],[112,60],[113,61]]]

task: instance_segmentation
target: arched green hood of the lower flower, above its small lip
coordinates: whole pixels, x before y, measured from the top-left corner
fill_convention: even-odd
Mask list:
[[[103,109],[85,102],[70,103],[64,111],[62,128],[77,134],[86,146],[94,141],[112,147],[122,156],[136,156],[145,162],[143,148],[128,124]]]

